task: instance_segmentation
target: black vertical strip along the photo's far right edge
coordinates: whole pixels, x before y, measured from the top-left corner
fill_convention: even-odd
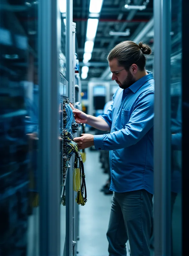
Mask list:
[[[189,255],[188,246],[188,116],[189,116],[189,87],[188,87],[188,10],[189,1],[182,1],[182,255]]]

